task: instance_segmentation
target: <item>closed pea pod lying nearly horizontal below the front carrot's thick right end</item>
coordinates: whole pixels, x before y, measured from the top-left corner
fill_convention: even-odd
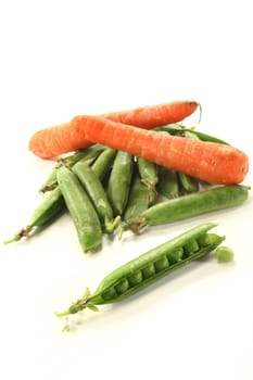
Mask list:
[[[216,186],[157,203],[132,220],[132,231],[241,205],[249,197],[249,189],[243,185]]]

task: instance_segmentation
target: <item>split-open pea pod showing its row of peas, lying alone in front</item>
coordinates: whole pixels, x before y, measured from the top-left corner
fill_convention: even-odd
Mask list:
[[[129,261],[104,277],[94,293],[90,294],[87,289],[80,300],[56,315],[75,314],[86,307],[96,311],[97,305],[124,301],[176,269],[206,256],[225,240],[224,236],[208,233],[215,226],[213,223],[197,226]]]

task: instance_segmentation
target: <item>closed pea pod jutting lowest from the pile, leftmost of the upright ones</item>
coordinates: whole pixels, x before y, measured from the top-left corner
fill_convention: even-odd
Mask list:
[[[77,176],[69,168],[62,166],[58,169],[56,178],[83,251],[86,253],[100,248],[100,219]]]

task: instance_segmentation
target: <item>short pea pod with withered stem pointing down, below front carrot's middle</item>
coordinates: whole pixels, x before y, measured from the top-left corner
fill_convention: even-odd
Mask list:
[[[140,178],[142,182],[147,186],[149,191],[149,205],[153,204],[156,199],[156,183],[159,180],[157,166],[156,164],[144,160],[142,157],[137,157],[137,165],[140,173]]]

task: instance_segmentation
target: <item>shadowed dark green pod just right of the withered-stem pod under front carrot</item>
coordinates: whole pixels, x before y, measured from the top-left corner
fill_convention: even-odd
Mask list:
[[[159,182],[156,189],[164,198],[173,199],[179,197],[180,188],[177,172],[165,166],[159,166]]]

